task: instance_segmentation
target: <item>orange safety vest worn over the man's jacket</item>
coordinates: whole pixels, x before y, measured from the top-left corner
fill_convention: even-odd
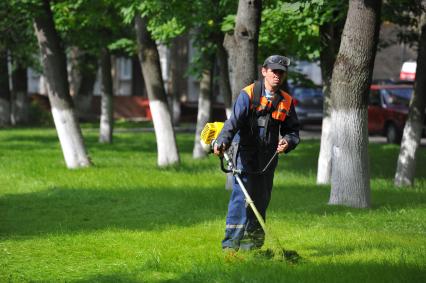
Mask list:
[[[254,83],[245,87],[243,89],[250,98],[250,109],[253,109],[253,97],[254,97]],[[284,121],[287,117],[288,112],[290,112],[292,97],[285,91],[280,91],[282,99],[278,103],[276,109],[272,112],[272,118],[279,121]],[[256,107],[256,111],[263,111],[265,109],[270,109],[272,106],[272,101],[268,101],[265,96],[260,97],[259,106]]]

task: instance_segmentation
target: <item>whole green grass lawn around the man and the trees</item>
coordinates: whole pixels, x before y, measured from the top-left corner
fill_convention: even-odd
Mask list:
[[[177,135],[181,165],[159,169],[153,133],[83,133],[95,166],[67,170],[54,130],[0,131],[0,282],[426,282],[424,147],[406,190],[399,147],[370,145],[365,210],[327,205],[318,141],[281,156],[267,225],[303,257],[289,264],[222,253],[230,192],[216,157],[192,159],[192,134]]]

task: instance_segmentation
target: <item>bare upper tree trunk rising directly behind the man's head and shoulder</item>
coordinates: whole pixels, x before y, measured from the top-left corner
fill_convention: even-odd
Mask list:
[[[225,35],[224,46],[232,68],[232,101],[241,89],[257,79],[257,45],[259,41],[261,0],[239,0],[233,35]]]

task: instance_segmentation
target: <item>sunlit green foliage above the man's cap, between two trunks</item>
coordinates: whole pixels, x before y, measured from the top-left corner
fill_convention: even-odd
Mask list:
[[[313,61],[319,58],[319,27],[346,15],[346,4],[337,0],[269,1],[262,11],[259,58],[291,55]]]

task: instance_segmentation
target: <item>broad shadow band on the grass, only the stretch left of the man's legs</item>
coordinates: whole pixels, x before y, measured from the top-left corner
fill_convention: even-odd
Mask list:
[[[102,190],[54,188],[0,198],[0,235],[119,228],[163,230],[224,217],[226,194],[219,190]]]

